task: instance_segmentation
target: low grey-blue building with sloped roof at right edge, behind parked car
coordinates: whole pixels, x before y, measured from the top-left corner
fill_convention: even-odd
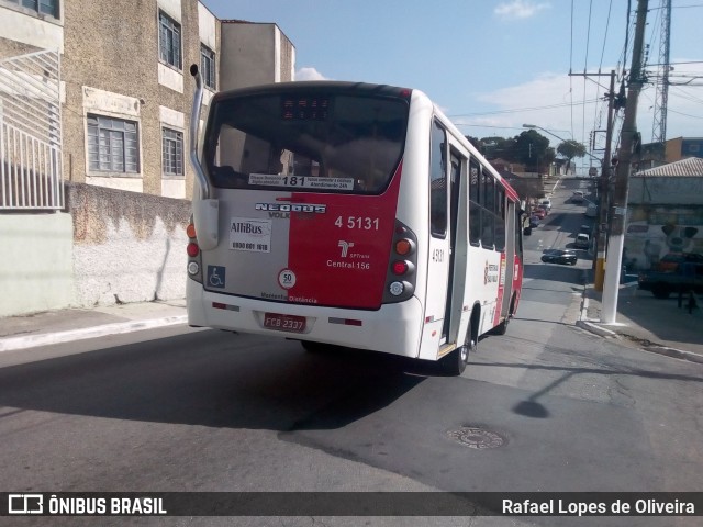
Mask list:
[[[667,255],[703,254],[703,158],[634,173],[623,264],[650,269]]]

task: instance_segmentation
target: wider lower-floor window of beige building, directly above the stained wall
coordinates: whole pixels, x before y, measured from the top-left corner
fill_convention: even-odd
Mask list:
[[[137,123],[88,115],[88,168],[104,172],[137,173]]]

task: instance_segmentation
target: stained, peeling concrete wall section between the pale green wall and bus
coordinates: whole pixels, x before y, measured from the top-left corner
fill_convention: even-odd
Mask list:
[[[190,202],[67,186],[74,218],[75,305],[186,296]]]

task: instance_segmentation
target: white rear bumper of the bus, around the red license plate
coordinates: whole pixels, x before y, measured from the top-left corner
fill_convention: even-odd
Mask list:
[[[204,291],[188,280],[188,324],[417,357],[422,304],[415,296],[378,311],[286,304]],[[304,317],[304,329],[265,327],[266,314]]]

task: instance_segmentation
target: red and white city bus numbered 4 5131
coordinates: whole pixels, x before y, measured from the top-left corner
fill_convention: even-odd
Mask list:
[[[464,371],[522,285],[515,191],[417,90],[289,82],[221,92],[197,152],[191,326]]]

